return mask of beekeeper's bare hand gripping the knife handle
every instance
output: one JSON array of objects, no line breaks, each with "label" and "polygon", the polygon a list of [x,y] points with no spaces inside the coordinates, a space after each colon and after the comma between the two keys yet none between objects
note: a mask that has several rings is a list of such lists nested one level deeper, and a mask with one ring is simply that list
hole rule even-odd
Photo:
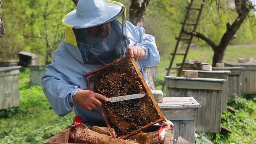
[{"label": "beekeeper's bare hand gripping the knife handle", "polygon": [[91,111],[93,108],[96,108],[97,106],[102,106],[101,101],[107,102],[108,98],[89,90],[80,90],[73,97],[73,101],[80,107]]}]

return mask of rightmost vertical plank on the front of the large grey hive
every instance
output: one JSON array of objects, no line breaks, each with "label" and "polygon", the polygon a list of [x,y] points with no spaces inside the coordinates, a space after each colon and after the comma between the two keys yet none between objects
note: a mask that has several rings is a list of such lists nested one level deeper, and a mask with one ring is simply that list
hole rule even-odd
[{"label": "rightmost vertical plank on the front of the large grey hive", "polygon": [[221,121],[221,91],[217,91],[217,99],[216,99],[216,122],[215,122],[215,132],[220,132],[220,121]]}]

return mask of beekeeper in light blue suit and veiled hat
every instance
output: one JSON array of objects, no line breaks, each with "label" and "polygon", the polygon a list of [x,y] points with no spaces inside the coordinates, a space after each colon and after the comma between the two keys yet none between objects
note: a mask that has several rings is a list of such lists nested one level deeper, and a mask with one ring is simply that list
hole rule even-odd
[{"label": "beekeeper in light blue suit and veiled hat", "polygon": [[107,98],[89,91],[83,75],[125,55],[133,57],[142,72],[144,66],[159,63],[155,38],[125,16],[121,3],[79,0],[76,10],[62,19],[64,40],[42,78],[43,92],[57,115],[65,116],[75,108],[83,121],[104,122],[96,106]]}]

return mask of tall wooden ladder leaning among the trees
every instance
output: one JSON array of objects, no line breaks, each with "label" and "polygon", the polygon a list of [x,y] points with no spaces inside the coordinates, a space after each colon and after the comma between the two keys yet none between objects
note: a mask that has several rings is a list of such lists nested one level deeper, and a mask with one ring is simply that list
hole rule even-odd
[{"label": "tall wooden ladder leaning among the trees", "polygon": [[[172,56],[172,57],[171,57],[171,62],[170,62],[170,64],[169,64],[169,67],[166,68],[166,70],[167,70],[166,75],[167,75],[167,76],[170,74],[170,71],[173,70],[173,69],[179,69],[178,76],[181,76],[181,72],[182,72],[182,69],[183,69],[183,66],[184,66],[186,57],[187,57],[187,53],[188,53],[188,50],[189,50],[189,48],[190,48],[191,41],[192,41],[192,39],[193,39],[193,36],[192,36],[192,35],[190,35],[190,36],[188,36],[188,37],[183,37],[182,35],[185,34],[184,32],[186,31],[186,30],[185,30],[185,26],[194,26],[192,31],[187,30],[187,31],[189,31],[189,32],[194,33],[194,32],[196,31],[197,25],[198,25],[198,22],[199,22],[199,19],[200,19],[202,10],[203,10],[203,5],[205,4],[205,3],[204,3],[205,0],[202,0],[202,3],[201,3],[200,8],[192,7],[193,1],[194,1],[194,0],[190,0],[190,3],[188,4],[188,7],[186,7],[187,13],[186,13],[186,16],[185,16],[184,21],[181,22],[182,27],[181,27],[180,34],[179,34],[178,37],[175,38],[175,39],[177,39],[177,43],[176,43],[174,52],[171,53],[171,56]],[[192,10],[193,10],[193,11],[198,11],[198,13],[197,13],[197,18],[196,18],[195,23],[187,22],[188,19],[189,19],[190,11],[192,11]],[[178,47],[179,47],[179,43],[180,43],[181,40],[187,41],[187,49],[186,49],[186,52],[184,52],[184,53],[177,53],[177,49],[178,49]],[[181,63],[181,66],[179,66],[179,67],[172,67],[173,62],[174,62],[174,58],[175,58],[176,55],[184,56],[184,57],[183,57],[183,61],[182,61],[182,63]],[[163,85],[162,85],[162,91],[164,90],[164,86],[165,86],[165,79],[164,79],[164,83],[163,83]]]}]

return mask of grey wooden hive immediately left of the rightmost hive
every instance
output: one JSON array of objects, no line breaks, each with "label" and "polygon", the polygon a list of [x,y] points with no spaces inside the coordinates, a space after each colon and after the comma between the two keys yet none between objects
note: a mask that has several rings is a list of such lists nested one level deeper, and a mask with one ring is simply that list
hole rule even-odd
[{"label": "grey wooden hive immediately left of the rightmost hive", "polygon": [[230,71],[228,74],[228,84],[227,84],[227,97],[233,99],[234,95],[241,96],[241,79],[240,75],[243,71],[243,67],[212,67],[214,71]]}]

